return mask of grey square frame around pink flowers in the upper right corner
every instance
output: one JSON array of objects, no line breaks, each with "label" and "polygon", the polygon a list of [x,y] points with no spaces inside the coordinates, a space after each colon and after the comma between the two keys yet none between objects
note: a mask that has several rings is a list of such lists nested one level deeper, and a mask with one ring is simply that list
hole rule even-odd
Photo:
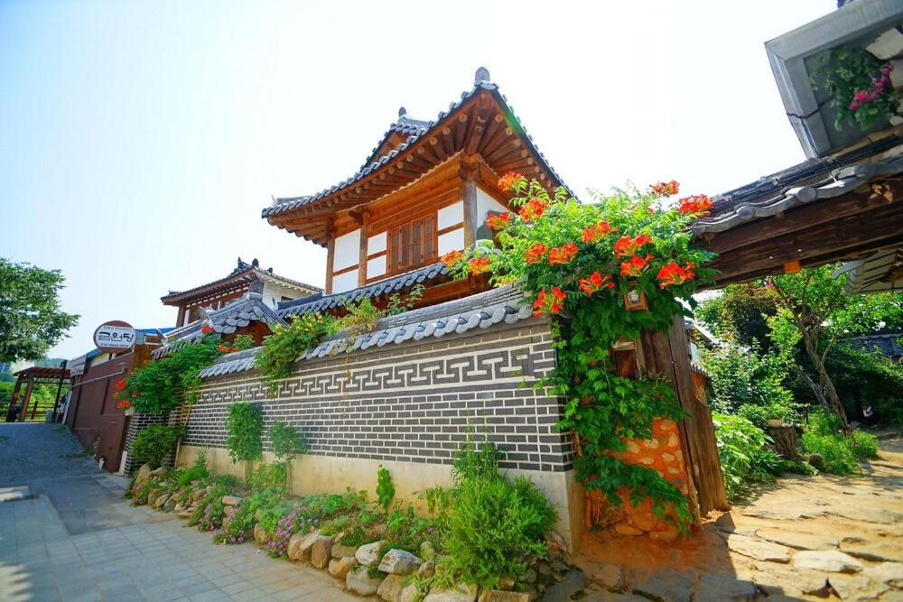
[{"label": "grey square frame around pink flowers in the upper right corner", "polygon": [[[834,128],[835,112],[813,88],[811,60],[845,44],[868,44],[901,21],[899,0],[856,0],[765,43],[787,117],[807,157],[823,157],[869,134],[856,125],[840,132]],[[876,125],[872,131],[887,126]]]}]

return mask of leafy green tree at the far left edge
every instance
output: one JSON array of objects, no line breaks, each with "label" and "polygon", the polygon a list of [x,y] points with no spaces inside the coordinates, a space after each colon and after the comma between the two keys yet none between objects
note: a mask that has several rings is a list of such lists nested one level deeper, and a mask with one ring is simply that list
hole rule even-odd
[{"label": "leafy green tree at the far left edge", "polygon": [[78,323],[60,309],[63,282],[60,270],[0,257],[0,362],[41,359]]}]

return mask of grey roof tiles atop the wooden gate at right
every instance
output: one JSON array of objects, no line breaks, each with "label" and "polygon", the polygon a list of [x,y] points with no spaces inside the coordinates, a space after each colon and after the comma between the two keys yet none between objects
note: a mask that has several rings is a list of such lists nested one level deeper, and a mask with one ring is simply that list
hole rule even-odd
[{"label": "grey roof tiles atop the wooden gate at right", "polygon": [[834,159],[810,160],[714,197],[712,214],[691,226],[694,235],[718,233],[798,205],[832,199],[878,176],[903,171],[900,158],[856,165],[903,144],[898,135],[862,146]]}]

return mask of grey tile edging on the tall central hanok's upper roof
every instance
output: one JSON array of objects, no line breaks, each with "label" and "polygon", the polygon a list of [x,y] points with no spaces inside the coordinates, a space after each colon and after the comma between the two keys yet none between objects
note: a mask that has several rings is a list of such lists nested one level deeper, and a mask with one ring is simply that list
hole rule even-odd
[{"label": "grey tile edging on the tall central hanok's upper roof", "polygon": [[[424,122],[424,121],[419,121],[419,120],[414,120],[414,119],[408,119],[407,123],[400,125],[399,126],[400,128],[403,128],[405,130],[410,130],[410,135],[408,135],[407,140],[404,143],[399,144],[394,150],[390,151],[389,153],[387,153],[379,158],[371,157],[372,161],[369,162],[368,164],[365,164],[363,167],[361,167],[357,171],[357,173],[352,175],[350,178],[348,178],[347,180],[344,180],[344,181],[340,181],[338,184],[335,184],[334,186],[330,186],[330,188],[327,188],[325,190],[321,190],[320,192],[317,192],[316,194],[307,195],[307,196],[303,196],[303,197],[286,197],[286,198],[282,198],[282,199],[275,199],[273,205],[263,209],[263,211],[261,212],[261,217],[267,218],[269,216],[283,213],[284,211],[289,211],[294,208],[303,207],[304,205],[308,205],[316,200],[323,199],[324,197],[328,197],[328,196],[330,196],[330,194],[332,194],[334,192],[348,188],[355,182],[367,177],[370,173],[377,171],[379,168],[392,162],[400,153],[405,152],[405,150],[407,150],[412,144],[416,143],[418,140],[420,140],[424,136],[427,136],[428,134],[432,135],[434,132],[438,131],[439,128],[437,127],[437,125],[441,124],[448,117],[454,115],[458,109],[460,109],[468,100],[470,100],[471,97],[474,97],[480,90],[489,91],[492,94],[492,96],[496,98],[496,101],[498,102],[499,106],[506,108],[507,112],[511,116],[514,116],[514,110],[512,109],[512,107],[510,107],[507,104],[507,98],[498,91],[498,86],[496,84],[489,81],[489,71],[487,71],[486,69],[480,68],[477,71],[477,78],[476,78],[473,88],[471,88],[470,91],[462,92],[461,100],[453,102],[449,106],[447,111],[442,111],[439,114],[439,116],[437,116],[432,121]],[[523,136],[526,145],[530,148],[531,152],[535,154],[535,156],[539,160],[539,162],[542,163],[542,166],[545,169],[545,171],[547,171],[554,178],[555,181],[561,182],[561,184],[563,186],[565,186],[561,177],[559,177],[558,173],[556,171],[554,171],[554,169],[552,169],[552,166],[549,165],[548,161],[545,159],[545,155],[543,153],[540,153],[539,149],[536,148],[536,145],[533,142],[532,136],[530,136],[530,134],[527,134],[526,128],[524,128],[524,126],[519,123],[520,120],[517,119],[517,116],[514,116],[514,118],[517,120],[518,125],[519,125],[519,130],[518,130],[519,134],[521,134]],[[396,123],[393,125],[395,126],[398,124]],[[392,130],[390,129],[390,132],[391,131]],[[405,131],[405,133],[407,133],[407,131]],[[374,153],[378,152],[378,150],[382,146],[383,142],[385,142],[385,138],[383,139],[382,142],[380,142],[380,144],[377,144],[377,148],[374,150]],[[567,187],[565,186],[565,188],[567,188]]]}]

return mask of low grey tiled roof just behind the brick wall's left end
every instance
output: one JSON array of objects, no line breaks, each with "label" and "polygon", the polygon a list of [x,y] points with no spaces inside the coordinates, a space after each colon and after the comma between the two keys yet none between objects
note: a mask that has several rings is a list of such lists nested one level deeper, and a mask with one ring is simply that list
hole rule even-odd
[{"label": "low grey tiled roof just behind the brick wall's left end", "polygon": [[200,341],[204,337],[201,329],[205,326],[212,328],[213,332],[219,335],[230,335],[254,321],[263,322],[271,328],[276,324],[285,324],[285,320],[264,302],[259,292],[248,292],[241,299],[232,301],[219,310],[206,310],[206,314],[203,320],[194,320],[191,324],[167,333],[167,343],[154,349],[152,353],[154,359],[165,357],[180,347]]}]

